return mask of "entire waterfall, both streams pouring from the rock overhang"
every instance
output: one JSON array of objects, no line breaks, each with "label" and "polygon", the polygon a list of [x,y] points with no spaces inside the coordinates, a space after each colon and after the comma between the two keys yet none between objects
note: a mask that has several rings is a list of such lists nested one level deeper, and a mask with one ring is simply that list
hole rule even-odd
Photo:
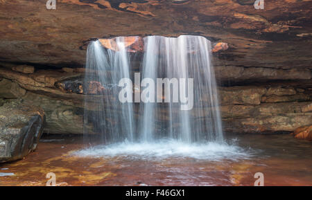
[{"label": "entire waterfall, both streams pouring from the rock overhang", "polygon": [[[144,37],[144,55],[135,71],[125,38],[115,38],[115,49],[104,48],[98,41],[88,46],[85,87],[98,82],[105,89],[85,97],[85,134],[90,135],[91,126],[93,134],[113,143],[163,138],[184,143],[223,142],[209,40],[192,35]],[[132,72],[141,73],[141,101],[121,103],[118,82],[133,80]],[[167,85],[162,82],[165,78]],[[156,95],[146,94],[147,87]],[[182,109],[191,97],[191,109]]]}]

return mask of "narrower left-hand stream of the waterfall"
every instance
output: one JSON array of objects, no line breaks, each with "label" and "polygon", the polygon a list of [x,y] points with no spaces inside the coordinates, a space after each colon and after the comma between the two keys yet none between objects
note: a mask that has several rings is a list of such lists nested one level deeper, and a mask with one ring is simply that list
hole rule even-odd
[{"label": "narrower left-hand stream of the waterfall", "polygon": [[134,138],[132,104],[122,104],[118,100],[119,80],[130,78],[130,57],[124,40],[125,37],[116,38],[119,51],[104,48],[98,40],[87,48],[84,136],[96,134],[95,139],[103,143]]}]

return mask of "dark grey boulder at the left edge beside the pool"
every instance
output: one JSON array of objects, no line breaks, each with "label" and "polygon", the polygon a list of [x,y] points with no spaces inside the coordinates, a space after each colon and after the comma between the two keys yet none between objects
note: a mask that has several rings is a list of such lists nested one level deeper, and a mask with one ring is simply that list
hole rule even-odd
[{"label": "dark grey boulder at the left edge beside the pool", "polygon": [[44,129],[44,111],[14,100],[0,107],[0,163],[34,151]]}]

